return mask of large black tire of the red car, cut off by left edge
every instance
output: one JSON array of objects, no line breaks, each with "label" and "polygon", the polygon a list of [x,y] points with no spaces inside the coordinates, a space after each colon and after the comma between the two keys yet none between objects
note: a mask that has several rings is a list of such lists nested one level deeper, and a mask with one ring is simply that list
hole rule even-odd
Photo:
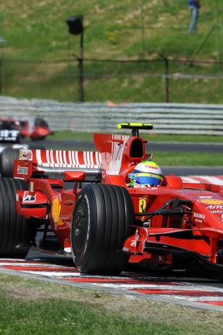
[{"label": "large black tire of the red car, cut off by left edge", "polygon": [[31,228],[24,216],[17,214],[15,192],[27,190],[26,181],[22,179],[0,178],[0,257],[25,258],[28,251],[15,248],[29,246]]}]

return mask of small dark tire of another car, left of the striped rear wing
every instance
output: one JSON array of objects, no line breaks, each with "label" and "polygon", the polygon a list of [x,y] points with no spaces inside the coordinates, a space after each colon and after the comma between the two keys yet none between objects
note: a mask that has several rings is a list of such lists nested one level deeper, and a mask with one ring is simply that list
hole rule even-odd
[{"label": "small dark tire of another car, left of the striped rear wing", "polygon": [[14,160],[20,158],[20,149],[3,149],[0,156],[1,177],[13,177]]}]

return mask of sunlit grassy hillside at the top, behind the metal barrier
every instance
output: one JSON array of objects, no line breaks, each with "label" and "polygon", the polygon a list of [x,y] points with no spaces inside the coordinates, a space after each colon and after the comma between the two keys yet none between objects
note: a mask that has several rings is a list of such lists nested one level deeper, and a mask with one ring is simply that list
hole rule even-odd
[{"label": "sunlit grassy hillside at the top, behind the metal barrier", "polygon": [[[222,22],[223,4],[218,2]],[[1,1],[0,35],[7,41],[0,45],[1,94],[78,101],[75,57],[80,53],[80,36],[68,33],[66,20],[84,15],[84,100],[164,102],[165,80],[146,77],[165,73],[160,54],[171,61],[169,73],[223,74],[223,66],[213,64],[185,68],[185,59],[192,57],[215,22],[215,3],[202,3],[197,34],[188,35],[190,13],[185,0],[92,0],[90,5],[88,0]],[[223,29],[219,34],[219,49],[213,30],[194,60],[217,61],[219,51],[222,61]],[[100,59],[144,62],[117,64]],[[171,79],[169,90],[173,103],[223,103],[222,80]]]}]

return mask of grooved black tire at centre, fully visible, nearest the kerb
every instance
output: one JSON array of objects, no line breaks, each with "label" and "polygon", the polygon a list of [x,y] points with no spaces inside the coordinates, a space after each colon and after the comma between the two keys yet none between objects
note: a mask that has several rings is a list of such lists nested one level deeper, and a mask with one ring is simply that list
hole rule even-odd
[{"label": "grooved black tire at centre, fully visible, nearest the kerb", "polygon": [[72,215],[71,251],[84,274],[117,275],[129,255],[117,253],[133,234],[134,207],[126,188],[89,184],[79,193]]}]

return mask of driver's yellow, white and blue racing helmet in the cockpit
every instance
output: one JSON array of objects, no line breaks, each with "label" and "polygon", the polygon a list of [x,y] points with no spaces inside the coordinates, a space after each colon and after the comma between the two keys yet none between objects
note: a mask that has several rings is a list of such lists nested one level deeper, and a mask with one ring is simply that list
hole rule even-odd
[{"label": "driver's yellow, white and blue racing helmet in the cockpit", "polygon": [[163,174],[160,167],[153,161],[144,161],[136,165],[132,173],[129,174],[130,186],[134,188],[144,188],[148,186],[159,186]]}]

